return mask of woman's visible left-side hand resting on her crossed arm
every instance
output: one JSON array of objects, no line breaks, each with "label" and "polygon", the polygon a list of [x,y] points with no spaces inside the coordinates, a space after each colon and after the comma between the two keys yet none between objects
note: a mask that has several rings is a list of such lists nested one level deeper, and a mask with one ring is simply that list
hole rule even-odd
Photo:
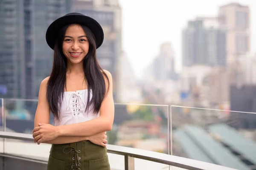
[{"label": "woman's visible left-side hand resting on her crossed arm", "polygon": [[56,139],[58,137],[58,127],[50,124],[39,123],[33,130],[34,142],[38,144]]}]

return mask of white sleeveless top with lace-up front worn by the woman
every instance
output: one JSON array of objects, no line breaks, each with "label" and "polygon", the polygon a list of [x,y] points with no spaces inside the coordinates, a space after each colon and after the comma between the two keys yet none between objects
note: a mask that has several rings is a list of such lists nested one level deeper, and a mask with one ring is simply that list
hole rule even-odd
[{"label": "white sleeveless top with lace-up front worn by the woman", "polygon": [[99,113],[94,114],[90,109],[90,112],[85,111],[89,92],[91,99],[92,91],[88,89],[64,92],[60,107],[60,119],[54,119],[55,126],[85,122],[99,117]]}]

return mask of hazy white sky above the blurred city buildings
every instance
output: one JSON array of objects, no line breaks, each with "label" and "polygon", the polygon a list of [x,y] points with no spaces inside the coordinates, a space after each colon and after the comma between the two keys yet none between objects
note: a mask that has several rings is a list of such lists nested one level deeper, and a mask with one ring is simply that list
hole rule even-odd
[{"label": "hazy white sky above the blurred city buildings", "polygon": [[[119,0],[122,47],[137,77],[157,56],[161,43],[171,42],[177,69],[181,66],[181,31],[195,17],[214,17],[218,7],[241,3],[250,7],[251,48],[256,52],[256,0]],[[254,21],[253,21],[254,20]]]}]

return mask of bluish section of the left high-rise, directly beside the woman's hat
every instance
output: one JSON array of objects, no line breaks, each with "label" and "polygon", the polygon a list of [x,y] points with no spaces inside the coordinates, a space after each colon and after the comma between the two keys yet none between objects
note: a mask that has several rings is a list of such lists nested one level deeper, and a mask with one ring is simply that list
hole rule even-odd
[{"label": "bluish section of the left high-rise, directly beside the woman's hat", "polygon": [[38,95],[41,81],[48,77],[52,69],[53,50],[45,40],[48,26],[57,18],[70,12],[72,0],[34,0],[33,4],[33,48],[32,56],[35,57],[36,94]]}]

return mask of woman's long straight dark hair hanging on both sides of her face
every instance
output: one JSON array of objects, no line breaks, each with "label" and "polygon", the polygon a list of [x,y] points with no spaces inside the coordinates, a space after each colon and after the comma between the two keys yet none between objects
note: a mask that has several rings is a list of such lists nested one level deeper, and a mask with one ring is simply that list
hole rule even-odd
[{"label": "woman's long straight dark hair hanging on both sides of her face", "polygon": [[[64,26],[58,32],[53,54],[52,72],[47,84],[47,100],[50,111],[56,119],[60,117],[60,106],[64,96],[64,89],[66,88],[67,57],[63,54],[62,45],[65,33],[70,25]],[[102,101],[107,94],[106,91],[108,92],[109,90],[109,79],[107,74],[102,71],[96,58],[96,41],[93,33],[86,26],[81,25],[81,27],[89,40],[89,51],[83,60],[84,79],[89,90],[85,110],[93,111],[96,114],[99,112]],[[108,81],[107,89],[104,77]],[[90,99],[90,89],[93,94],[92,99]]]}]

